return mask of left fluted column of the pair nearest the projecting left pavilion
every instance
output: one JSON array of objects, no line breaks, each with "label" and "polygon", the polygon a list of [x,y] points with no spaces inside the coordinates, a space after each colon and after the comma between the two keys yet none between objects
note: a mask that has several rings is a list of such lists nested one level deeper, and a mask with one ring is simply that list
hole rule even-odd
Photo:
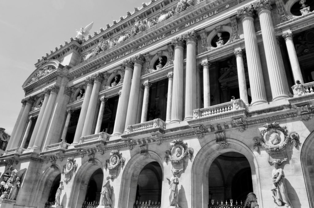
[{"label": "left fluted column of the pair nearest the projecting left pavilion", "polygon": [[84,122],[85,122],[87,109],[88,109],[88,104],[89,104],[90,96],[92,94],[94,80],[92,79],[92,77],[88,77],[86,79],[86,82],[87,82],[87,86],[86,86],[86,91],[84,95],[84,101],[82,104],[81,112],[79,114],[78,124],[76,126],[73,144],[77,144],[79,142],[79,138],[82,136]]}]

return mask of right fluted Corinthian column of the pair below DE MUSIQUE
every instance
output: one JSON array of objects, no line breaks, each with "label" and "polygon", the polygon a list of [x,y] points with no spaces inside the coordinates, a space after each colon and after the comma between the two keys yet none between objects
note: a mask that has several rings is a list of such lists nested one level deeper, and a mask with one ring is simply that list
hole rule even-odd
[{"label": "right fluted Corinthian column of the pair below DE MUSIQUE", "polygon": [[195,31],[184,34],[187,43],[187,69],[185,79],[185,115],[184,120],[193,118],[193,110],[196,109],[196,41]]}]

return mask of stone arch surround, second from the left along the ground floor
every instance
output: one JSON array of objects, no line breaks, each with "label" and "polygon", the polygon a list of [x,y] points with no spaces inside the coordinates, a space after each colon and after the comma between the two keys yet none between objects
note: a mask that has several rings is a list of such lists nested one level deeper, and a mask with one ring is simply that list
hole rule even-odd
[{"label": "stone arch surround, second from the left along the ground floor", "polygon": [[96,164],[94,165],[86,161],[77,170],[73,178],[72,191],[66,207],[82,207],[91,175],[97,169],[104,170],[104,165],[98,159],[95,159],[95,162]]}]

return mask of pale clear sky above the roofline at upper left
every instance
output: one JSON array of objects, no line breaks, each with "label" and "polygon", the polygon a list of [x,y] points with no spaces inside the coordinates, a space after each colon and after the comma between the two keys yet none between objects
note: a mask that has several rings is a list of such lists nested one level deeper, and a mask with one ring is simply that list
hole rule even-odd
[{"label": "pale clear sky above the roofline at upper left", "polygon": [[106,28],[150,0],[10,0],[0,2],[0,127],[12,133],[24,98],[22,85],[38,58],[94,22]]}]

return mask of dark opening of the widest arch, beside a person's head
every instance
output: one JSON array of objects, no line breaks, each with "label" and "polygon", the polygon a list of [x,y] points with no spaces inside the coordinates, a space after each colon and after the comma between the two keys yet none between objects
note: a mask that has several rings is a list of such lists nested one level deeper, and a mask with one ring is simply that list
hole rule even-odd
[{"label": "dark opening of the widest arch, beside a person's head", "polygon": [[244,201],[253,191],[249,161],[237,152],[220,154],[208,171],[209,201]]}]

